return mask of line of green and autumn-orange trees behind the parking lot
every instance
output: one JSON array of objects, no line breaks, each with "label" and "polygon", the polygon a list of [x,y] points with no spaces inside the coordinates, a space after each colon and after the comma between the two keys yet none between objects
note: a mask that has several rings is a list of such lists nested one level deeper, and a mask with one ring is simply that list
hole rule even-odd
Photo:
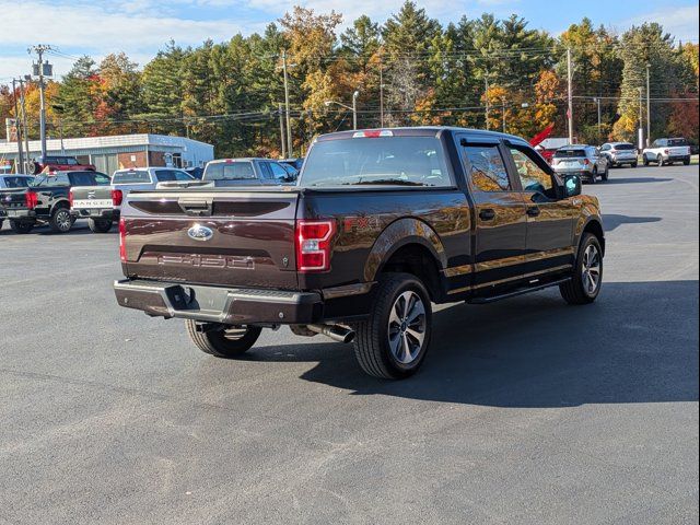
[{"label": "line of green and autumn-orange trees behind the parking lot", "polygon": [[[349,106],[355,91],[361,128],[454,125],[529,138],[553,125],[567,136],[570,49],[580,142],[634,141],[640,107],[646,121],[648,65],[652,139],[698,140],[698,44],[655,22],[615,34],[583,19],[555,37],[517,15],[443,26],[407,1],[383,24],[364,15],[345,31],[341,23],[336,12],[295,7],[262,34],[171,42],[142,69],[125,54],[82,57],[47,85],[49,133],[180,135],[214,144],[218,156],[277,156],[285,60],[295,154],[317,133],[351,127],[351,112],[326,102]],[[34,84],[26,105],[36,138]],[[0,86],[0,117],[12,116],[11,89]]]}]

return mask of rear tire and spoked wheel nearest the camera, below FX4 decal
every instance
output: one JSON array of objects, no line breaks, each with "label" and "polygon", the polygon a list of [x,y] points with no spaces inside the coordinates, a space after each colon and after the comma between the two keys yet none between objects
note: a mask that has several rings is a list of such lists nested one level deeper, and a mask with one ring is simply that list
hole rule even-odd
[{"label": "rear tire and spoked wheel nearest the camera, below FX4 decal", "polygon": [[[354,325],[355,358],[362,370],[375,377],[408,377],[418,371],[430,347],[430,294],[423,283],[410,273],[384,275],[374,293],[369,319]],[[420,304],[415,298],[420,299]],[[406,314],[402,319],[401,310]],[[392,322],[393,313],[396,322]],[[412,313],[416,313],[415,320],[407,320]],[[412,334],[422,335],[422,341]],[[392,338],[397,341],[395,350],[389,343]],[[404,354],[407,360],[402,362],[397,353]]]}]

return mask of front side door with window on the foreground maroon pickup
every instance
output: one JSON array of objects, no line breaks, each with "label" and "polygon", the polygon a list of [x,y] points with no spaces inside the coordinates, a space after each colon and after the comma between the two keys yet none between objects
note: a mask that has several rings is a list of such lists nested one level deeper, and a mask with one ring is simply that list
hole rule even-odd
[{"label": "front side door with window on the foreground maroon pickup", "polygon": [[571,198],[559,197],[551,168],[533,149],[510,142],[505,145],[527,208],[523,272],[536,279],[549,271],[569,269],[575,255]]}]

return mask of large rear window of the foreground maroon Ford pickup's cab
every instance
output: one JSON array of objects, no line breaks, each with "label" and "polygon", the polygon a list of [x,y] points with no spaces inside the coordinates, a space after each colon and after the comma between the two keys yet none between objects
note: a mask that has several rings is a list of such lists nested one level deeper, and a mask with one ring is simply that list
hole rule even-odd
[{"label": "large rear window of the foreground maroon Ford pickup's cab", "polygon": [[316,142],[301,186],[451,186],[435,137],[376,137]]}]

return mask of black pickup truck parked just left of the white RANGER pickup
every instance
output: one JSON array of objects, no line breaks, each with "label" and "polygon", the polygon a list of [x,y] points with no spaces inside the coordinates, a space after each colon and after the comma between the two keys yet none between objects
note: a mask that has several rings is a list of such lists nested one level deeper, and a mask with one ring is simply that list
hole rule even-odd
[{"label": "black pickup truck parked just left of the white RANGER pickup", "polygon": [[0,221],[9,219],[16,233],[28,233],[36,224],[66,233],[75,222],[70,213],[70,188],[98,185],[109,185],[109,177],[93,171],[38,175],[27,188],[0,190]]}]

